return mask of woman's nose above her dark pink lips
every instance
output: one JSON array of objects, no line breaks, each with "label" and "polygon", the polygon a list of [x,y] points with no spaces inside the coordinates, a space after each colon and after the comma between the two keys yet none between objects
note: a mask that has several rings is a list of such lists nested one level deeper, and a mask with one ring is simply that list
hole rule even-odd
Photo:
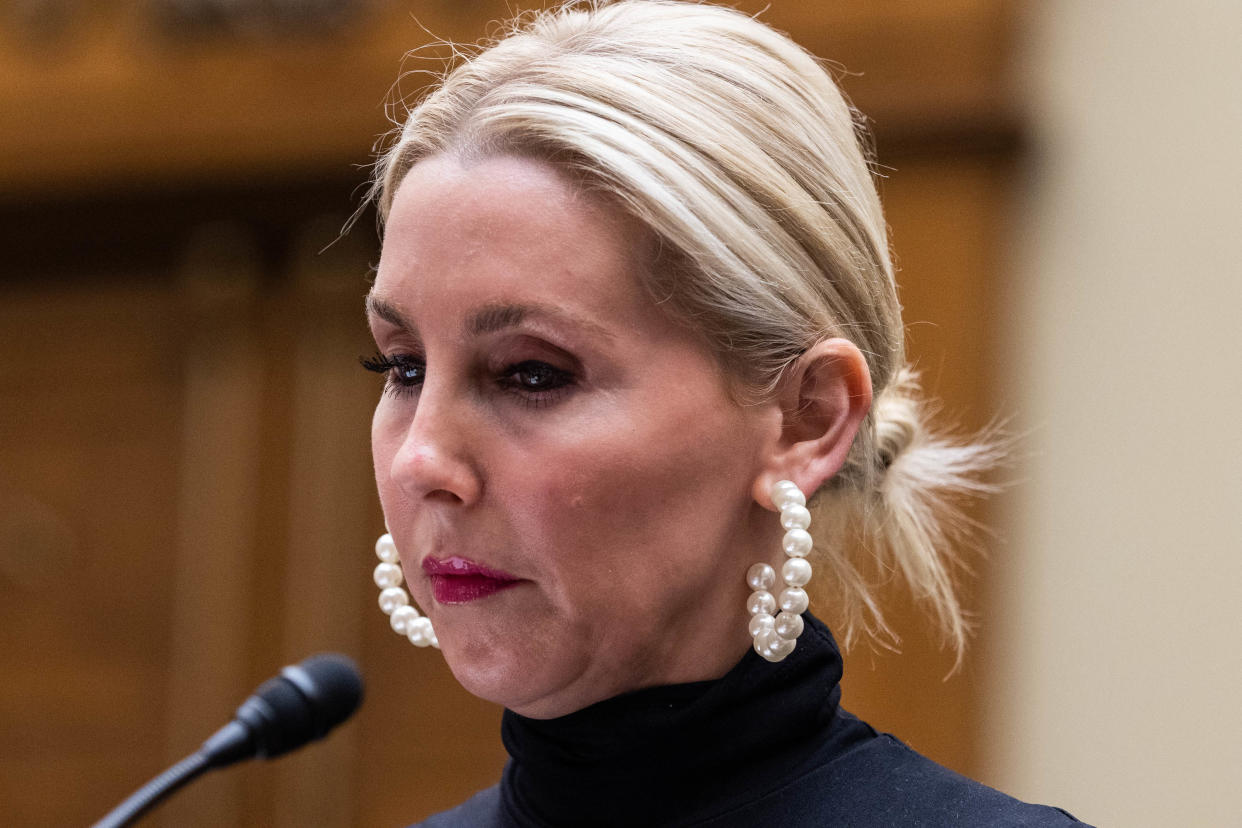
[{"label": "woman's nose above her dark pink lips", "polygon": [[394,483],[411,503],[472,504],[482,492],[469,447],[469,413],[451,390],[427,382],[392,456]]}]

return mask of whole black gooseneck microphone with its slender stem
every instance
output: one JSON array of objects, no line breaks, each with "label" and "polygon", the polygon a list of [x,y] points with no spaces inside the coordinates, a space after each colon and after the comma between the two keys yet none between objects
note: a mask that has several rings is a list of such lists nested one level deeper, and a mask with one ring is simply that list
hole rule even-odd
[{"label": "whole black gooseneck microphone with its slender stem", "polygon": [[322,739],[353,715],[363,700],[363,677],[335,653],[312,655],[263,682],[233,720],[190,756],[144,785],[93,828],[122,828],[206,771],[243,758],[272,758]]}]

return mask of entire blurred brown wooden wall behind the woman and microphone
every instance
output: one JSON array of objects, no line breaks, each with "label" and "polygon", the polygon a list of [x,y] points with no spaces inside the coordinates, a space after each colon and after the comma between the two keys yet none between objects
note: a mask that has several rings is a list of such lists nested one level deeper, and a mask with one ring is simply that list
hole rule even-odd
[{"label": "entire blurred brown wooden wall behind the woman and microphone", "polygon": [[[873,120],[912,351],[965,428],[997,410],[1018,11],[775,0],[764,14],[846,70]],[[497,778],[499,710],[375,606],[379,386],[356,356],[378,248],[370,214],[338,231],[402,55],[428,30],[473,41],[507,14],[498,0],[0,11],[9,824],[92,822],[322,649],[363,665],[356,719],[304,754],[200,781],[152,824],[402,826]],[[982,633],[959,674],[944,680],[951,658],[894,596],[903,653],[851,653],[845,693],[966,773],[985,770],[989,570],[975,570]]]}]

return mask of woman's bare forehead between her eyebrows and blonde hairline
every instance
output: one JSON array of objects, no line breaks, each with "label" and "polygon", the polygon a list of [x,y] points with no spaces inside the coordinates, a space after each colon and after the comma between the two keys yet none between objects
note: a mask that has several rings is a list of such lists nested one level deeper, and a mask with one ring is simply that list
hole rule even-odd
[{"label": "woman's bare forehead between her eyebrows and blonde hairline", "polygon": [[402,308],[461,299],[653,309],[640,283],[648,237],[546,163],[435,156],[397,189],[373,293]]}]

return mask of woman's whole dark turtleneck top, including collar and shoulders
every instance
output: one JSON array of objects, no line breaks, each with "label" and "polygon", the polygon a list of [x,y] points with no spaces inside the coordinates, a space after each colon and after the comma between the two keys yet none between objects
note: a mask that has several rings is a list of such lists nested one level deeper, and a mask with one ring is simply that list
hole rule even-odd
[{"label": "woman's whole dark turtleneck top, including collar and shoulders", "polygon": [[568,716],[505,711],[501,783],[427,828],[1082,824],[919,756],[837,705],[841,654],[805,614],[794,653]]}]

